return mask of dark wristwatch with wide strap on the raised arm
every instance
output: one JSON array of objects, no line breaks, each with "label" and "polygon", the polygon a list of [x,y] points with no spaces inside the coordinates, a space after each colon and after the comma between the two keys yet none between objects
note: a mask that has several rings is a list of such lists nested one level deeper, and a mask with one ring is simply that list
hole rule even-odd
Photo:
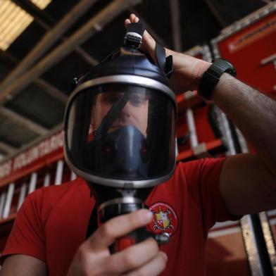
[{"label": "dark wristwatch with wide strap on the raised arm", "polygon": [[213,64],[203,73],[201,82],[199,82],[199,95],[210,100],[215,85],[218,84],[220,76],[225,72],[232,76],[236,75],[236,69],[229,61],[222,58],[215,59]]}]

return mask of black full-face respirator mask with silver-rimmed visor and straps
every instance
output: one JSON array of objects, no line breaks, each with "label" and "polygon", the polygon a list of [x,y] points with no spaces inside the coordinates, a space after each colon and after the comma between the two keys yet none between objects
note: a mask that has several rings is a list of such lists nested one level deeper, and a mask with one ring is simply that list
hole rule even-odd
[{"label": "black full-face respirator mask with silver-rimmed visor and straps", "polygon": [[[156,65],[139,49],[143,32],[140,23],[127,25],[123,46],[75,79],[65,111],[65,159],[87,180],[101,222],[144,208],[151,189],[175,169],[172,56],[157,44]],[[130,234],[134,243],[149,235]]]}]

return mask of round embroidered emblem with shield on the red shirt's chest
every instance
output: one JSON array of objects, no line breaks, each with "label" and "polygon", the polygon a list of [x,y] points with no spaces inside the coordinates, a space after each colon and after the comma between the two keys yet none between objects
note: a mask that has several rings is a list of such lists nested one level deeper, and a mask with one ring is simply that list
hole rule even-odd
[{"label": "round embroidered emblem with shield on the red shirt's chest", "polygon": [[178,218],[172,206],[164,202],[156,202],[149,206],[153,213],[153,221],[149,224],[151,232],[160,234],[167,232],[172,236],[178,227]]}]

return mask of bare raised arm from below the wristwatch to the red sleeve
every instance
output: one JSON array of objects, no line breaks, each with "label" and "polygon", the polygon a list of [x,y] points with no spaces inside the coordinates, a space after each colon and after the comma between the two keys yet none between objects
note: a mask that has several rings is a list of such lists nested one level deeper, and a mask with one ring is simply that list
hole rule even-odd
[{"label": "bare raised arm from below the wristwatch to the red sleeve", "polygon": [[220,189],[230,214],[276,208],[276,101],[223,74],[212,100],[256,150],[227,158]]}]

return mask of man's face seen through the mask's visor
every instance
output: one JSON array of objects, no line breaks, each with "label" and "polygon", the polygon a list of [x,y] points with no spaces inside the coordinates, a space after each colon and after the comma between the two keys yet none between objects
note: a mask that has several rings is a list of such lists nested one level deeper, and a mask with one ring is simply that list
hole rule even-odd
[{"label": "man's face seen through the mask's visor", "polygon": [[[118,102],[123,93],[106,92],[96,96],[92,111],[92,129],[96,130],[103,117],[108,113],[111,106]],[[146,137],[146,127],[148,125],[149,99],[144,94],[132,93],[129,101],[125,104],[122,111],[114,121],[108,132],[113,132],[120,127],[132,125],[144,134]]]}]

